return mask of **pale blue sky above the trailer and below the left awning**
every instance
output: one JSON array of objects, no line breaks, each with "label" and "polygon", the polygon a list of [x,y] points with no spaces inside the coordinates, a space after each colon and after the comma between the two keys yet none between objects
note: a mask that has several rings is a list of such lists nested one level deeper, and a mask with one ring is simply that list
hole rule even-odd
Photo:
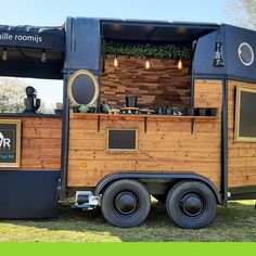
[{"label": "pale blue sky above the trailer and below the left awning", "polygon": [[[67,16],[229,23],[232,0],[0,0],[0,25],[59,26]],[[62,81],[23,79],[48,106],[62,102]],[[49,94],[50,88],[54,93]]]}]

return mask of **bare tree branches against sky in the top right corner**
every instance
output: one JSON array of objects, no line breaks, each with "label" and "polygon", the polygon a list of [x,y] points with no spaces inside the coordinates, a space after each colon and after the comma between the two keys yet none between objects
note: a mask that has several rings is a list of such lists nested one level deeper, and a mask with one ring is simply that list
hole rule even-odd
[{"label": "bare tree branches against sky in the top right corner", "polygon": [[232,24],[256,29],[256,0],[232,0],[226,10]]}]

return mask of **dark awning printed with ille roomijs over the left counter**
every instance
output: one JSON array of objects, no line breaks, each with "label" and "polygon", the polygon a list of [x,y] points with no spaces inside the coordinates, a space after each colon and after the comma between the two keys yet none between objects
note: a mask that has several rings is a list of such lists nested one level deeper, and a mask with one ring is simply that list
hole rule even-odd
[{"label": "dark awning printed with ille roomijs over the left counter", "polygon": [[0,76],[62,79],[64,51],[63,28],[0,26]]}]

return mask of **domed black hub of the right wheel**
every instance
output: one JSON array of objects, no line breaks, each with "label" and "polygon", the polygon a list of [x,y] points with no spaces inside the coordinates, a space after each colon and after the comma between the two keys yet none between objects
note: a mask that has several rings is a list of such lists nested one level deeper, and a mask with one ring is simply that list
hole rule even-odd
[{"label": "domed black hub of the right wheel", "polygon": [[199,216],[204,208],[203,201],[196,194],[187,194],[180,203],[183,213],[191,217]]}]

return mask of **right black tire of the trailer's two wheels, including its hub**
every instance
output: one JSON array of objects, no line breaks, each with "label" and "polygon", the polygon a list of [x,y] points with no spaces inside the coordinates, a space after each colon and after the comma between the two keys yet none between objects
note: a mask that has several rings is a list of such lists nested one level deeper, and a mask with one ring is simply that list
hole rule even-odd
[{"label": "right black tire of the trailer's two wheels, including its hub", "polygon": [[182,181],[168,193],[166,209],[176,225],[187,229],[208,226],[216,215],[216,197],[213,191],[199,181]]}]

